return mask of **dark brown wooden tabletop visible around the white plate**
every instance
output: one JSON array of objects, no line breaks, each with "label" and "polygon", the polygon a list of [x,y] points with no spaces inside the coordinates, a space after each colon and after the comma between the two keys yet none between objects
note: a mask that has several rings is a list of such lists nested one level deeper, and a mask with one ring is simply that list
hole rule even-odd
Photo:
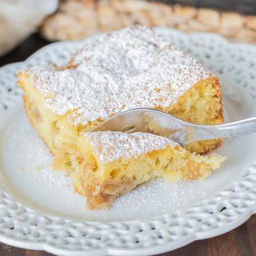
[{"label": "dark brown wooden tabletop visible around the white plate", "polygon": [[[0,58],[0,66],[24,61],[34,51],[46,45],[37,34],[23,42],[17,49]],[[51,256],[44,251],[31,251],[9,247],[0,243],[0,256]],[[253,256],[256,255],[256,215],[245,224],[221,236],[195,241],[161,256]]]}]

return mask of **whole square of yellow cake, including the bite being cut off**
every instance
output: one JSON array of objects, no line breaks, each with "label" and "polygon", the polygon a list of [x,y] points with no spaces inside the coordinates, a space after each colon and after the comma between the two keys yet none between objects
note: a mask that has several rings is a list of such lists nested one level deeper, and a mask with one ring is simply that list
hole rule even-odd
[{"label": "whole square of yellow cake, including the bite being cut off", "polygon": [[[24,69],[18,85],[32,125],[55,157],[55,168],[70,170],[90,208],[106,207],[155,177],[203,179],[221,162],[216,156],[191,154],[217,148],[220,139],[197,141],[186,147],[189,152],[154,135],[86,133],[117,113],[141,107],[193,123],[224,121],[218,77],[150,28],[106,34],[86,44],[65,67]],[[152,130],[157,132],[157,124]]]}]

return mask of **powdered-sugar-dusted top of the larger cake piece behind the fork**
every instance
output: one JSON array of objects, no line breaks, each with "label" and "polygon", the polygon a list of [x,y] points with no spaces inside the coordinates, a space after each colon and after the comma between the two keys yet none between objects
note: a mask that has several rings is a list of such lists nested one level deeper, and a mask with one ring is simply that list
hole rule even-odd
[{"label": "powdered-sugar-dusted top of the larger cake piece behind the fork", "polygon": [[74,125],[139,107],[166,107],[212,73],[150,28],[106,34],[78,51],[65,68],[23,70],[46,108]]}]

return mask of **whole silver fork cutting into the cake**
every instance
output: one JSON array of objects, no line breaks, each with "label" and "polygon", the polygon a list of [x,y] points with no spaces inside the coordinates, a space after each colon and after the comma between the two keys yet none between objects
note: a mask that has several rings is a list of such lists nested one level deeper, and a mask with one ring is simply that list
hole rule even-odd
[{"label": "whole silver fork cutting into the cake", "polygon": [[154,133],[186,146],[193,141],[235,137],[256,131],[256,117],[222,125],[197,125],[152,108],[135,108],[110,117],[91,131]]}]

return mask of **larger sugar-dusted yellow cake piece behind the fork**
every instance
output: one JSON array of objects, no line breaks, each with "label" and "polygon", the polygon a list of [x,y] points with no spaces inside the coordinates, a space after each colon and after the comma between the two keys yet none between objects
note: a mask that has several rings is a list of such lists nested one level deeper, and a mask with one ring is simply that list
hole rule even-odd
[{"label": "larger sugar-dusted yellow cake piece behind the fork", "polygon": [[[31,123],[55,156],[57,168],[76,137],[131,108],[157,108],[201,124],[223,122],[218,77],[150,28],[125,28],[90,42],[66,67],[49,64],[18,74]],[[221,140],[187,146],[205,153]]]}]

